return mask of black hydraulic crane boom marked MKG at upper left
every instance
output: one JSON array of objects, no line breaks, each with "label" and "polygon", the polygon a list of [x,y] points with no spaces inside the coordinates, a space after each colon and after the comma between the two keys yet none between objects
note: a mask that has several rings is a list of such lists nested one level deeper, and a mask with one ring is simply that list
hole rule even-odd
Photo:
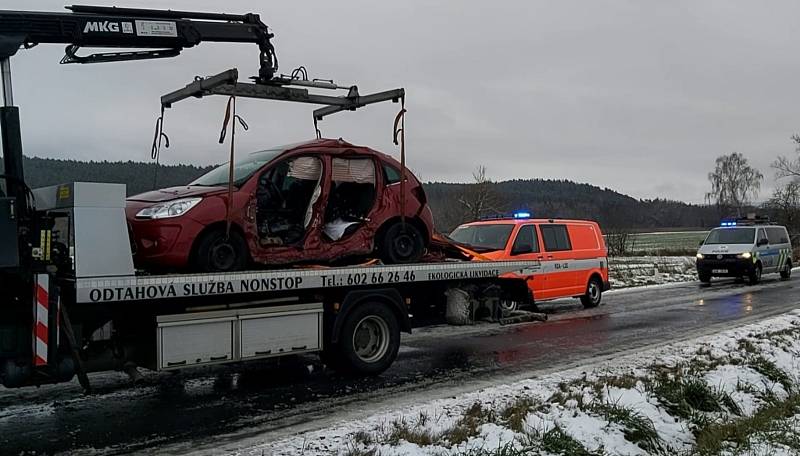
[{"label": "black hydraulic crane boom marked MKG at upper left", "polygon": [[[218,14],[172,10],[68,6],[71,12],[0,11],[0,60],[20,47],[66,44],[61,63],[98,63],[174,57],[203,41],[258,45],[257,82],[277,70],[273,34],[258,14]],[[79,56],[81,47],[141,48]]]}]

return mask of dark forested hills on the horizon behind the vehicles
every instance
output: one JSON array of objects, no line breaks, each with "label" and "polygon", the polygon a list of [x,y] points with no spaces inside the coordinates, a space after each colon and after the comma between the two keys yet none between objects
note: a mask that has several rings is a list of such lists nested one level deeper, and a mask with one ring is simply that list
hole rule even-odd
[{"label": "dark forested hills on the horizon behind the vehicles", "polygon": [[[25,157],[25,177],[32,188],[64,182],[111,182],[127,185],[128,195],[185,185],[211,167],[156,165],[140,162],[62,160]],[[519,209],[543,218],[598,221],[604,230],[701,228],[718,221],[715,207],[665,199],[640,200],[622,193],[569,180],[492,181],[485,167],[473,182],[424,184],[436,227],[449,233],[461,223]]]}]

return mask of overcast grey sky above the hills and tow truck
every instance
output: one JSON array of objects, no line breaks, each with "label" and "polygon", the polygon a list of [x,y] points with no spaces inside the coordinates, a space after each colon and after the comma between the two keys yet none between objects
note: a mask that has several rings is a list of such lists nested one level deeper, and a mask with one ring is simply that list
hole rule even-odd
[{"label": "overcast grey sky above the hills and tow truck", "polygon": [[[92,2],[87,2],[92,3]],[[99,2],[94,2],[99,3]],[[4,0],[7,9],[65,3]],[[113,3],[109,3],[113,4]],[[640,198],[702,202],[714,159],[742,152],[773,186],[794,154],[800,61],[796,1],[129,0],[118,6],[257,12],[276,34],[281,71],[407,90],[407,157],[423,180],[589,182]],[[158,99],[195,75],[257,70],[257,49],[204,43],[174,59],[58,65],[62,46],[12,60],[28,155],[150,157]],[[218,163],[223,98],[167,112],[165,163]],[[240,100],[238,150],[313,137],[312,107]],[[327,119],[322,132],[398,155],[397,105]]]}]

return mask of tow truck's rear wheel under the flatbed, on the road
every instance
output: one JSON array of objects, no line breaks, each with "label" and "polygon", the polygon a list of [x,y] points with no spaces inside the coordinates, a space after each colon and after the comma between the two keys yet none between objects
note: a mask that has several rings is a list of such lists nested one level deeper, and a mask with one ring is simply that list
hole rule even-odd
[{"label": "tow truck's rear wheel under the flatbed, on the road", "polygon": [[378,302],[364,303],[346,316],[339,341],[328,358],[339,371],[377,375],[397,358],[400,325],[394,312]]}]

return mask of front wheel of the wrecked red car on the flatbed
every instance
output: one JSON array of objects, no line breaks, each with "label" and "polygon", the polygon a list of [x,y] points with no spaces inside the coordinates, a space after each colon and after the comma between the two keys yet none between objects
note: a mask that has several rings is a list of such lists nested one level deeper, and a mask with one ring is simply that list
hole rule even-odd
[{"label": "front wheel of the wrecked red car on the flatbed", "polygon": [[193,267],[200,272],[241,271],[247,266],[247,242],[238,232],[215,229],[204,233],[197,242]]}]

